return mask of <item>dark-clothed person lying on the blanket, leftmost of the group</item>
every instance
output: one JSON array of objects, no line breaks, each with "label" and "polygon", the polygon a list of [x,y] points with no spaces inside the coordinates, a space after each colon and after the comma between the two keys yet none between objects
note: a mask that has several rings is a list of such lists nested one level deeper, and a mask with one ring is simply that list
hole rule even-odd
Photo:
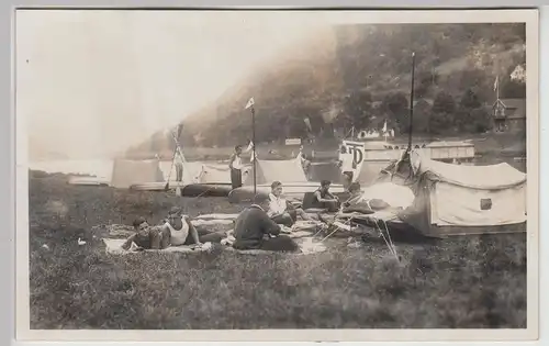
[{"label": "dark-clothed person lying on the blanket, leftmost of the group", "polygon": [[133,222],[135,234],[131,235],[122,248],[127,250],[135,243],[141,249],[164,249],[170,244],[169,231],[163,227],[152,227],[145,217],[137,217]]}]

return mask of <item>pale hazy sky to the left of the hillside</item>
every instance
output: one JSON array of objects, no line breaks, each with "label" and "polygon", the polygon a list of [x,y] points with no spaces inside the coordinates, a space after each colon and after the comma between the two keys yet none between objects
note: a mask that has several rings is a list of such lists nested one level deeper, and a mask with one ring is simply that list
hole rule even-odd
[{"label": "pale hazy sky to the left of the hillside", "polygon": [[31,150],[111,155],[318,26],[267,12],[19,11],[16,114]]}]

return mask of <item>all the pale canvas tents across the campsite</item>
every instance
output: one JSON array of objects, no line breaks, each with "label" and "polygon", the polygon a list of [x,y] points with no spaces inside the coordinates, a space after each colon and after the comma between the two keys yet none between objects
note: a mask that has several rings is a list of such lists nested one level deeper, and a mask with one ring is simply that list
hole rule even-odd
[{"label": "all the pale canvas tents across the campsite", "polygon": [[[244,172],[245,188],[253,186],[253,166]],[[280,180],[287,185],[313,187],[301,157],[290,160],[257,160],[258,185]],[[183,183],[228,185],[226,164],[186,163]],[[506,163],[490,166],[453,165],[430,159],[421,150],[376,168],[371,186],[391,182],[410,189],[413,202],[397,212],[397,221],[428,236],[525,232],[527,219],[526,174]],[[381,172],[380,172],[381,171]],[[175,179],[175,175],[170,175]],[[110,186],[131,188],[143,182],[166,181],[158,160],[119,159]],[[300,190],[301,191],[301,190]],[[388,193],[394,193],[388,191]],[[394,197],[393,197],[394,198]],[[391,224],[394,220],[386,220]]]}]

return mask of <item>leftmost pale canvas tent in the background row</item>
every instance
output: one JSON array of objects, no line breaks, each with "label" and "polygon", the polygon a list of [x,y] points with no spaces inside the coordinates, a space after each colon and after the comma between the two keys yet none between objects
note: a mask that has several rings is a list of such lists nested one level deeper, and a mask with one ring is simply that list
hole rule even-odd
[{"label": "leftmost pale canvas tent in the background row", "polygon": [[128,189],[132,185],[146,182],[163,182],[164,175],[159,161],[115,159],[112,168],[111,186]]}]

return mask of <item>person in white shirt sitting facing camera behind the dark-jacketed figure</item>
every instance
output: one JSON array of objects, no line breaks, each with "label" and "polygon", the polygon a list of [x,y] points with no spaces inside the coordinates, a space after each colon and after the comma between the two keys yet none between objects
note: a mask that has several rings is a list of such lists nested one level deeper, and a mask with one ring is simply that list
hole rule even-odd
[{"label": "person in white shirt sitting facing camera behind the dark-jacketed figure", "polygon": [[271,193],[269,193],[269,209],[267,215],[278,224],[287,227],[293,226],[298,216],[306,221],[313,219],[307,215],[301,208],[294,208],[282,197],[282,182],[273,181],[271,183]]}]

